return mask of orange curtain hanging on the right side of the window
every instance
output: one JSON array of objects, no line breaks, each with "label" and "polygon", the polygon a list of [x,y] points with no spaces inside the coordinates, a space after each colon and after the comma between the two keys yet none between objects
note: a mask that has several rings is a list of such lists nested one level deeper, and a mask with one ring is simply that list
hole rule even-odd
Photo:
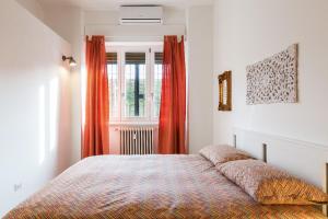
[{"label": "orange curtain hanging on the right side of the window", "polygon": [[187,153],[184,37],[164,37],[159,153]]}]

